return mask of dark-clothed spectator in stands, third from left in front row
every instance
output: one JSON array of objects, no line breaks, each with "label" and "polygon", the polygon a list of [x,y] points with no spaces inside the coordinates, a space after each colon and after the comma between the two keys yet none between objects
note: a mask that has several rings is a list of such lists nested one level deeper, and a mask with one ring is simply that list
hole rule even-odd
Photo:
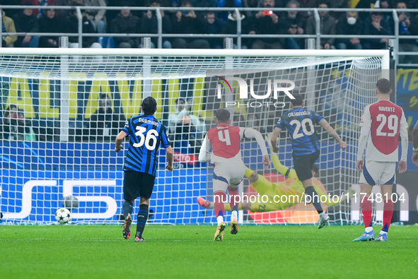
[{"label": "dark-clothed spectator in stands, third from left in front row", "polygon": [[[55,16],[55,9],[49,8],[45,16],[39,20],[39,32],[59,33],[64,32],[64,20]],[[58,36],[41,36],[39,47],[59,47]]]}]

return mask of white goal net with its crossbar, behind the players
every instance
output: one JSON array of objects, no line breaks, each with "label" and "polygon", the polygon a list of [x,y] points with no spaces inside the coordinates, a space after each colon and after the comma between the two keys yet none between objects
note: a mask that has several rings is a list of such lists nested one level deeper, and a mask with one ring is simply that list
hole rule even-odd
[{"label": "white goal net with its crossbar, behind the players", "polygon": [[[115,153],[115,136],[126,119],[140,113],[147,96],[156,98],[155,117],[168,127],[175,151],[173,172],[164,170],[163,148],[158,156],[149,222],[216,222],[214,210],[197,203],[199,196],[213,198],[212,169],[197,158],[205,133],[214,126],[214,111],[226,108],[233,125],[267,136],[289,110],[286,90],[301,93],[306,107],[327,119],[349,144],[340,150],[317,127],[321,155],[315,183],[328,196],[351,198],[349,189],[358,188],[361,113],[376,101],[376,81],[388,76],[383,71],[388,61],[388,51],[376,50],[2,49],[1,221],[54,223],[57,208],[66,207],[73,223],[121,222],[122,166],[129,143]],[[285,132],[279,146],[279,162],[293,167]],[[241,149],[245,165],[273,183],[268,185],[293,189],[294,179],[273,165],[264,170],[255,141],[242,141]],[[245,177],[240,193],[256,194],[260,188]],[[311,205],[274,206],[243,204],[240,222],[318,220]],[[350,199],[325,208],[332,222],[361,222],[359,203]]]}]

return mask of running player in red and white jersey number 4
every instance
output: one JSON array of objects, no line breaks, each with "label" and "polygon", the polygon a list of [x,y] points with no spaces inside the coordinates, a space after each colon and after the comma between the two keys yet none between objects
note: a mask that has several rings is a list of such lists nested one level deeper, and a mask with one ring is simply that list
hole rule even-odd
[{"label": "running player in red and white jersey number 4", "polygon": [[[223,203],[228,189],[231,205],[231,234],[238,233],[238,185],[243,180],[245,165],[241,159],[240,140],[255,138],[262,151],[262,162],[266,169],[270,164],[265,141],[259,131],[252,128],[230,126],[231,119],[227,109],[218,109],[216,127],[210,129],[204,137],[199,152],[199,162],[211,162],[214,165],[214,209],[218,227],[214,240],[223,239],[226,224],[223,222]],[[209,151],[211,150],[211,153]]]}]

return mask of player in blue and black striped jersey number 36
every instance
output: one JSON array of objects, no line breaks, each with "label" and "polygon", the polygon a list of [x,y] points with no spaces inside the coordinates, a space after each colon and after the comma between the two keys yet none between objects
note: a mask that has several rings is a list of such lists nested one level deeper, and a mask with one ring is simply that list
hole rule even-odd
[{"label": "player in blue and black striped jersey number 36", "polygon": [[123,139],[129,136],[129,150],[123,166],[124,204],[122,211],[125,222],[122,234],[125,239],[131,236],[134,201],[135,198],[141,197],[135,242],[144,242],[142,232],[148,220],[149,198],[151,198],[156,179],[157,153],[160,145],[166,148],[168,160],[166,169],[169,172],[173,170],[173,149],[170,146],[166,127],[153,117],[157,109],[156,100],[153,97],[146,97],[142,101],[141,109],[143,114],[130,117],[115,140],[115,151],[119,152],[123,149]]}]

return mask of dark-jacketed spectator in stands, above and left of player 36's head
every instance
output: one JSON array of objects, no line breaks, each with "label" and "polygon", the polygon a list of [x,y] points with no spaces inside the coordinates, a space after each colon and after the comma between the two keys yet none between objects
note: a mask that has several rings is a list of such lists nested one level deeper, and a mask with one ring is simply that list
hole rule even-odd
[{"label": "dark-jacketed spectator in stands, above and left of player 36's head", "polygon": [[[110,23],[111,33],[139,33],[140,30],[141,20],[137,16],[132,15],[129,8],[121,10],[119,15]],[[140,43],[139,37],[115,37],[114,39],[117,47],[122,48],[139,47]]]}]

